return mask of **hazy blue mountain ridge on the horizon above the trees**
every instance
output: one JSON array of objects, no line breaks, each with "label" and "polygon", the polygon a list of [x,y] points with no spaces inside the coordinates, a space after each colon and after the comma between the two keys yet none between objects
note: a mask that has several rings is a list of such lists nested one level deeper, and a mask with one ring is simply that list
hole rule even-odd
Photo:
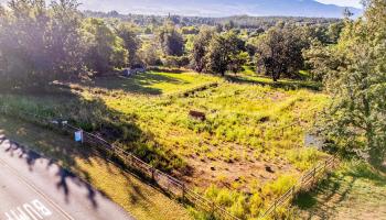
[{"label": "hazy blue mountain ridge on the horizon above the trees", "polygon": [[[4,3],[7,0],[0,0]],[[324,4],[315,0],[81,0],[82,10],[118,11],[137,14],[179,14],[189,16],[309,16],[342,18],[347,8],[354,16],[362,14],[362,9]]]}]

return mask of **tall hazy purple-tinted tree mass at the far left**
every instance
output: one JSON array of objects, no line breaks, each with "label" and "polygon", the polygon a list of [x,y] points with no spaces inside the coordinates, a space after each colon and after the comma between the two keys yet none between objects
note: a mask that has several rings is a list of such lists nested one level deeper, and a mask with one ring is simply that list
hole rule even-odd
[{"label": "tall hazy purple-tinted tree mass at the far left", "polygon": [[34,86],[82,72],[82,16],[75,0],[11,0],[0,11],[2,80]]}]

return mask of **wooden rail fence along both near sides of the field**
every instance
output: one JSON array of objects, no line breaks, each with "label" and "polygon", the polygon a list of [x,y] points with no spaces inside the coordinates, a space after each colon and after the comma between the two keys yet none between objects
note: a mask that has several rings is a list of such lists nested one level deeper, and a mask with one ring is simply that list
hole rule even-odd
[{"label": "wooden rail fence along both near sides of the field", "polygon": [[[4,114],[13,116],[13,117],[22,118],[29,121],[31,121],[31,118],[32,118],[33,122],[37,122],[43,125],[54,127],[67,133],[74,133],[75,131],[83,131],[81,128],[74,127],[65,121],[57,121],[51,118],[41,117],[41,116],[25,112],[22,110],[20,110],[20,112],[23,112],[22,113],[23,116],[14,111],[10,112],[8,111],[7,108],[3,108],[3,107],[0,108],[0,112]],[[294,124],[290,124],[288,128],[293,125]],[[103,138],[96,134],[83,131],[83,135],[84,135],[83,138],[84,138],[85,144],[88,144],[93,147],[103,150],[105,152],[108,152],[111,155],[115,155],[127,167],[139,172],[141,175],[146,176],[147,178],[152,179],[152,182],[156,183],[161,189],[174,196],[175,198],[180,199],[182,202],[193,205],[200,210],[212,213],[216,219],[240,220],[239,218],[229,213],[223,207],[216,206],[211,200],[201,196],[196,191],[187,188],[183,182],[159,169],[156,169],[150,164],[135,156],[132,153],[129,153],[124,148],[116,146],[114,144],[110,144],[109,142],[107,142],[106,140],[104,140]],[[277,210],[279,208],[283,208],[285,206],[287,206],[297,196],[299,191],[308,190],[312,188],[323,174],[325,174],[326,172],[329,172],[329,169],[334,167],[335,162],[336,162],[335,157],[330,157],[323,163],[320,163],[313,168],[309,169],[294,186],[292,186],[288,191],[286,191],[282,196],[276,199],[271,206],[268,207],[268,209],[260,216],[260,219],[266,219],[269,217],[276,218]]]}]

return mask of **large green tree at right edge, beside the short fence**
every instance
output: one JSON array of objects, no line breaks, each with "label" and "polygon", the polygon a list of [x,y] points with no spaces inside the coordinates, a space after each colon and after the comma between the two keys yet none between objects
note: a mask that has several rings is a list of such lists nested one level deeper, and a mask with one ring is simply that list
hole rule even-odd
[{"label": "large green tree at right edge, beside the short fence", "polygon": [[346,20],[339,44],[326,47],[337,68],[325,84],[333,96],[324,132],[342,152],[367,155],[379,165],[386,154],[386,2],[365,2],[363,19]]}]

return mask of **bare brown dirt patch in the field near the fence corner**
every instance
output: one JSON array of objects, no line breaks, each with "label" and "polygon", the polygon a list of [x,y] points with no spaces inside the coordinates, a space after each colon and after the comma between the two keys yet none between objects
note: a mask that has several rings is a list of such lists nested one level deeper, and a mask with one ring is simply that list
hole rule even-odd
[{"label": "bare brown dirt patch in the field near the fence corner", "polygon": [[269,162],[265,160],[240,160],[228,163],[216,160],[202,160],[199,157],[187,158],[187,163],[193,167],[190,176],[183,176],[193,188],[207,188],[211,185],[236,189],[250,194],[256,188],[276,180],[285,173],[300,174],[293,166],[285,160]]}]

